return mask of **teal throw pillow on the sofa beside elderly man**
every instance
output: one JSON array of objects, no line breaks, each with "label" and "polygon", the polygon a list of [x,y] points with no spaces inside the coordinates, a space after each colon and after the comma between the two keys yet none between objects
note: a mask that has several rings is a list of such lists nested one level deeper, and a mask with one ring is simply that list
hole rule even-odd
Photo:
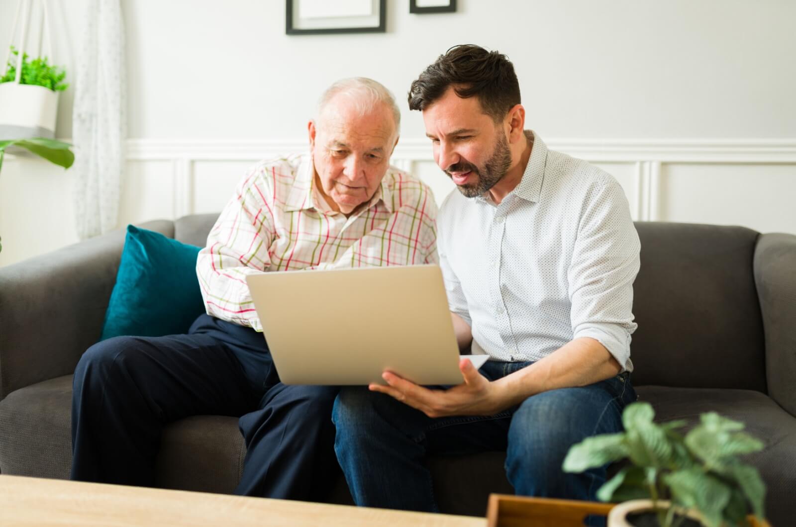
[{"label": "teal throw pillow on the sofa beside elderly man", "polygon": [[205,313],[197,279],[201,248],[127,225],[102,338],[187,333]]}]

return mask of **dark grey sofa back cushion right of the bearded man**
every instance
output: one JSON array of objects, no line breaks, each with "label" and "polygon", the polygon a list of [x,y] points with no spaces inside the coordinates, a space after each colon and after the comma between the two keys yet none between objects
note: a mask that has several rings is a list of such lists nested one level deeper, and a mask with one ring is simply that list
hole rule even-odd
[{"label": "dark grey sofa back cushion right of the bearded man", "polygon": [[752,271],[759,232],[658,222],[636,228],[642,251],[633,291],[634,385],[766,392]]}]

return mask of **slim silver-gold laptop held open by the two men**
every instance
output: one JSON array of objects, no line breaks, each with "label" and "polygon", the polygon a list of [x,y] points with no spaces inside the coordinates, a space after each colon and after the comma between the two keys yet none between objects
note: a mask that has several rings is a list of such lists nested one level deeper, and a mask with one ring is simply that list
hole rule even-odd
[{"label": "slim silver-gold laptop held open by the two men", "polygon": [[[458,345],[436,265],[249,275],[279,378],[287,385],[458,385]],[[486,355],[467,356],[478,368]]]}]

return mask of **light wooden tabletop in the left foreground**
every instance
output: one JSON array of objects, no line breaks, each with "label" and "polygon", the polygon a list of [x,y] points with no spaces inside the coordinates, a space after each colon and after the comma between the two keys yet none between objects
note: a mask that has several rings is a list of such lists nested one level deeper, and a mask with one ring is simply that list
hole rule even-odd
[{"label": "light wooden tabletop in the left foreground", "polygon": [[0,525],[486,527],[486,518],[0,474]]}]

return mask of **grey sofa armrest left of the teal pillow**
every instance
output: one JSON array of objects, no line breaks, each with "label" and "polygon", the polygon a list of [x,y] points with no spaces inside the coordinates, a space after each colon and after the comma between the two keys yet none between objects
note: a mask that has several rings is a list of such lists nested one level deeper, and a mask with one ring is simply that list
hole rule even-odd
[{"label": "grey sofa armrest left of the teal pillow", "polygon": [[[174,236],[174,222],[143,228]],[[124,229],[0,267],[0,400],[75,371],[100,338]]]}]

